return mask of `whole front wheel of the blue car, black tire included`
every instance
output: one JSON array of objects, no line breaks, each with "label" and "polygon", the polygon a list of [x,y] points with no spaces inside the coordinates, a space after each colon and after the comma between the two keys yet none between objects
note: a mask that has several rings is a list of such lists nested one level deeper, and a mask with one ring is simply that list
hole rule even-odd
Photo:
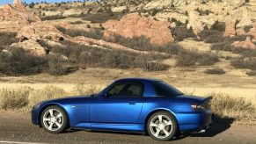
[{"label": "whole front wheel of the blue car, black tire included", "polygon": [[52,105],[41,113],[40,124],[49,133],[62,133],[68,126],[68,118],[60,106]]}]

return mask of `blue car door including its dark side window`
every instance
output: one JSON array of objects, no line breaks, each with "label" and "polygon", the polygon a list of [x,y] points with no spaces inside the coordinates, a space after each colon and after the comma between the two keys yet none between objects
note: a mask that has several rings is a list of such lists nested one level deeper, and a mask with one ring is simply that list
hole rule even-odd
[{"label": "blue car door including its dark side window", "polygon": [[90,104],[91,123],[135,124],[143,107],[142,83],[114,83]]}]

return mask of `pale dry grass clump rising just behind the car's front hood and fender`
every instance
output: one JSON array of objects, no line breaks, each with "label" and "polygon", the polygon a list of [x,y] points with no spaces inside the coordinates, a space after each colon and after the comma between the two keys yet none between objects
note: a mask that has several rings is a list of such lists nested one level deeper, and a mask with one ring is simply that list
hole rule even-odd
[{"label": "pale dry grass clump rising just behind the car's front hood and fender", "polygon": [[40,90],[33,90],[29,93],[28,106],[31,108],[35,104],[39,104],[42,101],[46,101],[49,99],[55,99],[59,97],[67,97],[68,93],[62,88],[48,85]]}]

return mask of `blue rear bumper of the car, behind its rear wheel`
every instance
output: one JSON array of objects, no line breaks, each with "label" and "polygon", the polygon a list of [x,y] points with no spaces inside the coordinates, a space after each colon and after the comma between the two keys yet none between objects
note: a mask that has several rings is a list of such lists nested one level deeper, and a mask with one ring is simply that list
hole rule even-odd
[{"label": "blue rear bumper of the car, behind its rear wheel", "polygon": [[196,112],[178,114],[178,123],[180,132],[200,132],[211,127],[213,114],[210,110],[207,112]]}]

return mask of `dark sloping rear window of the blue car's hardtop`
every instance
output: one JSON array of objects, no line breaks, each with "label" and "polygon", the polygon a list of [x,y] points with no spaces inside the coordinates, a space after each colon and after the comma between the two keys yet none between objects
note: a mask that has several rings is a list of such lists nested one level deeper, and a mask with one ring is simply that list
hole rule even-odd
[{"label": "dark sloping rear window of the blue car's hardtop", "polygon": [[183,95],[181,91],[174,88],[172,85],[162,81],[155,82],[154,87],[157,92],[157,96],[159,97],[174,97],[174,96]]}]

